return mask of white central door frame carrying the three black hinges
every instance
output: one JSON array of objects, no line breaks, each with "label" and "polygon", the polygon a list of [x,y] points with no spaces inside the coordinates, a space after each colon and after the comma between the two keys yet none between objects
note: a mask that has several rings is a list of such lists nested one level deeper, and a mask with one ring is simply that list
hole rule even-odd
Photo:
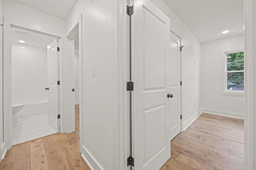
[{"label": "white central door frame carrying the three black hinges", "polygon": [[[126,6],[131,0],[118,0],[118,141],[119,148],[113,165],[119,160],[118,169],[130,170],[127,166],[127,158],[130,156],[130,113],[129,92],[126,91],[126,82],[129,81],[129,16]],[[113,152],[114,153],[114,152]]]}]

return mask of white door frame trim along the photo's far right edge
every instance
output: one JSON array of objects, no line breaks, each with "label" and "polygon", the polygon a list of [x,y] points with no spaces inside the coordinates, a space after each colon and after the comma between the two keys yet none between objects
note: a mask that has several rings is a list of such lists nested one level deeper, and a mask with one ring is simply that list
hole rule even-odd
[{"label": "white door frame trim along the photo's far right edge", "polygon": [[[246,60],[244,60],[244,169],[252,170],[256,168],[254,158],[256,156],[255,150],[255,140],[256,133],[254,129],[254,122],[256,117],[254,116],[255,107],[253,100],[255,99],[253,95],[253,81],[255,81],[255,72],[253,72],[253,55],[255,55],[255,50],[253,50],[253,45],[255,45],[255,37],[253,28],[255,27],[255,13],[253,12],[253,7],[255,3],[253,0],[244,0],[244,55]],[[254,91],[255,94],[255,91]]]}]

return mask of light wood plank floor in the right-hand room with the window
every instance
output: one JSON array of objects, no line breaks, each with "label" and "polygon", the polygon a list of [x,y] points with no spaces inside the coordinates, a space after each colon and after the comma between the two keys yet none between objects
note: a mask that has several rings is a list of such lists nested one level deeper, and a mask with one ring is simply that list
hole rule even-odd
[{"label": "light wood plank floor in the right-hand room with the window", "polygon": [[202,113],[171,141],[160,170],[244,170],[244,120]]}]

